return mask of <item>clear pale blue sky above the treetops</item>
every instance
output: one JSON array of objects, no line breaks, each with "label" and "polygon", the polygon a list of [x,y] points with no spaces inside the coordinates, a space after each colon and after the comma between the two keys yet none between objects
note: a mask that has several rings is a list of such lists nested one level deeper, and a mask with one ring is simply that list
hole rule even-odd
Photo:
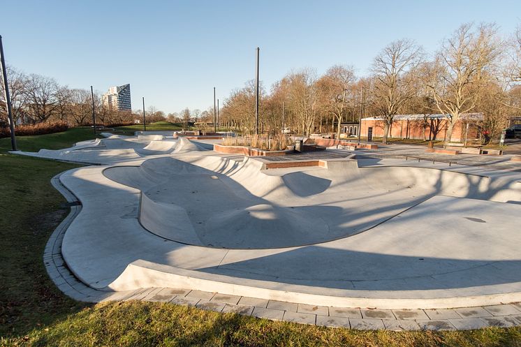
[{"label": "clear pale blue sky above the treetops", "polygon": [[392,40],[427,52],[464,22],[521,23],[521,1],[8,1],[0,0],[8,64],[71,88],[131,84],[132,106],[205,110],[254,78],[334,64],[367,75]]}]

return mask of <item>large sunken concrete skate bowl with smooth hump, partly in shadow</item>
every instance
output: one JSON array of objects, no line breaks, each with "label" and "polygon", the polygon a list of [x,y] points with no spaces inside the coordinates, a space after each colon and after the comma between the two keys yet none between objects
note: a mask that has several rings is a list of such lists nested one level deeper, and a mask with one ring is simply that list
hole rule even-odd
[{"label": "large sunken concrete skate bowl with smooth hump, partly in shadow", "polygon": [[[484,200],[491,211],[497,211],[494,202],[521,202],[521,184],[515,179],[430,168],[359,168],[353,159],[288,172],[263,170],[263,163],[251,158],[163,157],[108,168],[103,175],[141,191],[139,221],[149,232],[223,249],[279,249],[350,237],[409,210],[408,218],[416,218],[414,208],[435,195]],[[430,212],[421,210],[418,219],[425,213],[480,219],[432,206]]]}]

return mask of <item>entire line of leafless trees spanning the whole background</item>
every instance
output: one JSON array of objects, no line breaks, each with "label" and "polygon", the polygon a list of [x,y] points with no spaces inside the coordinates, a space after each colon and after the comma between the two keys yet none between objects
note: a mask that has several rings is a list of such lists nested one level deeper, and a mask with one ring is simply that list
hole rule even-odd
[{"label": "entire line of leafless trees spanning the whole background", "polygon": [[[63,121],[70,126],[91,124],[92,99],[87,89],[60,86],[42,75],[26,75],[8,68],[15,124]],[[521,25],[502,38],[495,24],[462,24],[443,40],[434,54],[409,39],[396,40],[374,57],[369,75],[358,77],[355,68],[335,65],[323,75],[313,68],[291,71],[275,82],[270,91],[260,85],[259,125],[262,133],[281,128],[310,135],[335,132],[342,121],[378,117],[383,142],[399,114],[448,115],[446,140],[462,115],[483,112],[480,128],[497,138],[508,117],[521,113]],[[2,86],[0,85],[0,88]],[[6,124],[3,90],[0,95],[0,125]],[[219,126],[242,133],[255,131],[255,87],[248,81],[223,102]],[[94,95],[99,124],[129,124],[142,119],[142,110],[111,111]],[[210,126],[214,110],[189,110],[166,115],[154,106],[147,109],[147,122],[167,120],[186,128]]]}]

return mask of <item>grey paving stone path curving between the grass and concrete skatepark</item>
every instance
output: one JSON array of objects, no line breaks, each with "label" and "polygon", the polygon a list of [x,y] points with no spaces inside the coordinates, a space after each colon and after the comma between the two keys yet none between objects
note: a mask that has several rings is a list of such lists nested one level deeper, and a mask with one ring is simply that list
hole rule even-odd
[{"label": "grey paving stone path curving between the grass and concrete skatepark", "polygon": [[170,302],[221,313],[358,330],[469,330],[487,326],[521,325],[520,302],[459,309],[388,310],[322,307],[182,288],[140,288],[121,292],[95,290],[78,281],[61,257],[64,233],[82,207],[78,199],[61,185],[58,177],[59,175],[52,179],[52,185],[66,197],[71,213],[52,233],[45,246],[43,260],[52,281],[64,294],[75,300]]}]

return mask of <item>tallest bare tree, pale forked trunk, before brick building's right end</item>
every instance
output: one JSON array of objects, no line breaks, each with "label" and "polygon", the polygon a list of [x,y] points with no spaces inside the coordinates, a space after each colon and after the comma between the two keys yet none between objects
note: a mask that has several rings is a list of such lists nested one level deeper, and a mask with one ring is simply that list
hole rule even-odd
[{"label": "tallest bare tree, pale forked trunk, before brick building's right end", "polygon": [[436,78],[429,83],[436,108],[448,114],[445,147],[463,114],[476,107],[479,90],[494,61],[499,57],[494,24],[463,24],[443,43],[436,58]]}]

